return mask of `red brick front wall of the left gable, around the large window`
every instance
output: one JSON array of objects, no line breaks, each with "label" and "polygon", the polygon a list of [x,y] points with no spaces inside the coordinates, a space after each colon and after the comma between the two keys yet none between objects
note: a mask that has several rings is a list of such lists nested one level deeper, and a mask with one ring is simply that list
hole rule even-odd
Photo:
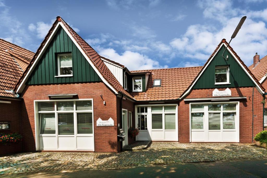
[{"label": "red brick front wall of the left gable, around the large window", "polygon": [[[117,152],[117,112],[116,95],[103,82],[69,83],[26,86],[22,92],[22,131],[24,151],[34,151],[34,100],[48,100],[49,94],[78,94],[79,99],[93,99],[94,136],[96,152]],[[103,99],[106,105],[103,104]],[[114,120],[114,126],[97,127],[98,118]]]}]

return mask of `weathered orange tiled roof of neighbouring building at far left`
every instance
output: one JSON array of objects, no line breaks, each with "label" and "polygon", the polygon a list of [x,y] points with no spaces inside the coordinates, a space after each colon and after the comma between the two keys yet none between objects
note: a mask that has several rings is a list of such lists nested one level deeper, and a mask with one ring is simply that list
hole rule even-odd
[{"label": "weathered orange tiled roof of neighbouring building at far left", "polygon": [[0,96],[16,97],[12,92],[34,52],[0,39]]}]

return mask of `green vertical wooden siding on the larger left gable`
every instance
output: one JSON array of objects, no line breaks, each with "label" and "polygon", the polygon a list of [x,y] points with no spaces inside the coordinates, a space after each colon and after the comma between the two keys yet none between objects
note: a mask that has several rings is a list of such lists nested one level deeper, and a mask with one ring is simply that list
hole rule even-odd
[{"label": "green vertical wooden siding on the larger left gable", "polygon": [[[72,53],[73,76],[58,76],[57,54]],[[37,66],[30,75],[27,84],[52,84],[101,81],[95,70],[85,59],[80,50],[72,42],[66,32],[60,27],[50,42]]]}]

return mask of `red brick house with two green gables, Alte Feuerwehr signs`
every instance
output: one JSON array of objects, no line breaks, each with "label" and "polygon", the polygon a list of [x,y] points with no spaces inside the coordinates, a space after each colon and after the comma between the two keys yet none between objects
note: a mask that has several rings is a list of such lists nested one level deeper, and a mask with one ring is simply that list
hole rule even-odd
[{"label": "red brick house with two green gables, Alte Feuerwehr signs", "polygon": [[134,140],[251,143],[263,127],[265,89],[230,46],[222,58],[226,45],[202,67],[129,71],[57,17],[13,86],[23,151],[120,152]]}]

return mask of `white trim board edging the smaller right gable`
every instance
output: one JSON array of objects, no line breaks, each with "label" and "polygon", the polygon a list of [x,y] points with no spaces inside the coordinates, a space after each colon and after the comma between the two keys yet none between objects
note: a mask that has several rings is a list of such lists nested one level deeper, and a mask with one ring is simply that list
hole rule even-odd
[{"label": "white trim board edging the smaller right gable", "polygon": [[[219,47],[219,49],[222,46],[226,47],[225,43],[222,43],[221,46]],[[215,52],[215,54],[212,56],[212,58],[209,60],[209,62],[207,63],[207,65],[204,67],[204,69],[201,71],[201,73],[198,75],[197,79],[194,81],[194,83],[190,86],[189,89],[186,90],[186,92],[179,98],[182,99],[184,98],[193,88],[193,86],[195,85],[195,83],[198,81],[198,79],[200,78],[200,76],[203,74],[203,72],[206,70],[206,68],[209,66],[210,62],[213,60],[214,56],[216,56],[216,54],[218,53],[219,49]],[[237,61],[237,63],[239,64],[239,66],[241,66],[241,68],[246,72],[246,74],[249,76],[249,78],[253,81],[253,83],[256,85],[257,90],[261,93],[264,94],[264,91],[262,91],[261,87],[257,84],[257,82],[252,78],[252,76],[249,74],[249,72],[244,68],[244,66],[240,63],[240,61],[236,58],[236,56],[233,54],[233,52],[231,50],[229,50],[229,48],[227,48],[227,50],[230,52],[230,54],[234,57],[234,59]]]}]

